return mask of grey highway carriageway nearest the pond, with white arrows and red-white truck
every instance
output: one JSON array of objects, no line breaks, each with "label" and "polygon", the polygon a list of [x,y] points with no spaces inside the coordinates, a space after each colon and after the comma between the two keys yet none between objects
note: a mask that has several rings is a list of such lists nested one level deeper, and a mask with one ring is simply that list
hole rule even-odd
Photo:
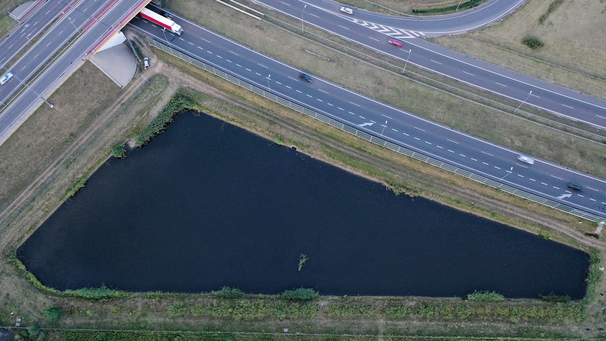
[{"label": "grey highway carriageway nearest the pond, with white arrows and red-white truck", "polygon": [[[315,76],[313,82],[305,82],[295,67],[174,13],[173,19],[184,29],[181,36],[139,16],[129,25],[192,58],[373,136],[528,193],[606,217],[606,182],[602,179],[541,160],[534,165],[524,164],[516,159],[518,152],[514,150],[419,118]],[[585,190],[570,190],[569,182],[580,184]]]}]

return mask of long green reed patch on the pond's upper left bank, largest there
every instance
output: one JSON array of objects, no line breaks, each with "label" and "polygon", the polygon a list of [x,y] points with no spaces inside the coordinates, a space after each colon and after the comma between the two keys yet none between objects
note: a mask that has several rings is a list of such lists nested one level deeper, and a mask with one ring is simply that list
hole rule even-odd
[{"label": "long green reed patch on the pond's upper left bank, largest there", "polygon": [[201,107],[185,94],[176,93],[153,121],[137,136],[135,147],[141,148],[162,133],[173,118],[183,110],[201,111]]}]

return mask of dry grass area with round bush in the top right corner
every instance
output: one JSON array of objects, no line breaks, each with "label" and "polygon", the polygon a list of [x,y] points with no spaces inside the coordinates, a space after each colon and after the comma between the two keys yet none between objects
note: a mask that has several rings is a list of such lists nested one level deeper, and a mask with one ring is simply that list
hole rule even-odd
[{"label": "dry grass area with round bush in the top right corner", "polygon": [[[529,76],[606,98],[606,82],[551,67],[471,39],[487,41],[542,61],[606,79],[606,3],[565,1],[541,24],[539,18],[548,12],[551,2],[553,0],[527,1],[502,22],[465,36],[444,36],[432,40],[452,50]],[[545,44],[544,47],[533,50],[522,44],[527,36],[539,38]]]}]

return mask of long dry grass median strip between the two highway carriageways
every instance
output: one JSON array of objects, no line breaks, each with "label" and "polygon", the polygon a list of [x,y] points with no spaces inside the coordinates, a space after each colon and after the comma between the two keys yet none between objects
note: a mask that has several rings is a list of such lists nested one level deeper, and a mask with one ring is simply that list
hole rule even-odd
[{"label": "long dry grass median strip between the two highway carriageways", "polygon": [[[522,153],[606,177],[604,145],[582,141],[481,105],[461,101],[449,94],[312,44],[272,25],[241,15],[215,1],[206,0],[201,6],[175,0],[170,2],[170,9],[288,64],[395,107]],[[225,20],[227,17],[233,20]],[[209,44],[202,44],[202,47],[212,48]],[[330,58],[333,62],[311,56],[305,50]],[[338,60],[335,61],[336,58]]]}]

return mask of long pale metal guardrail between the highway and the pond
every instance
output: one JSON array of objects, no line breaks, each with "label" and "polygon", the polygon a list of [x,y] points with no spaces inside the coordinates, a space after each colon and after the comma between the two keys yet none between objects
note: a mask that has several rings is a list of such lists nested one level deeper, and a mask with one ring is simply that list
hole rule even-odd
[{"label": "long pale metal guardrail between the highway and the pond", "polygon": [[498,188],[499,190],[505,191],[510,194],[514,194],[515,196],[519,196],[524,199],[531,200],[538,204],[545,205],[545,206],[548,206],[551,208],[555,208],[556,210],[564,211],[565,213],[572,214],[573,216],[591,220],[592,222],[596,222],[596,223],[601,223],[601,222],[606,221],[606,219],[596,216],[594,214],[585,213],[583,211],[577,210],[576,208],[569,207],[567,205],[562,205],[562,204],[559,204],[558,202],[554,202],[553,200],[545,199],[543,197],[539,197],[534,194],[530,194],[525,191],[510,187],[508,185],[500,184],[499,182],[488,179],[484,176],[480,176],[478,174],[471,173],[470,171],[463,170],[458,167],[454,167],[453,165],[446,164],[445,162],[442,162],[442,161],[433,159],[431,157],[425,156],[423,154],[417,153],[416,151],[412,151],[408,148],[392,144],[391,142],[385,141],[383,139],[379,139],[378,137],[375,137],[375,136],[371,136],[370,134],[364,133],[364,131],[360,131],[356,128],[342,124],[341,122],[328,118],[327,116],[324,116],[323,114],[316,113],[316,111],[309,110],[308,108],[302,107],[301,105],[287,101],[286,99],[280,98],[280,97],[276,96],[275,94],[268,93],[267,91],[262,90],[261,88],[255,87],[254,85],[241,81],[240,79],[235,78],[234,76],[231,76],[231,74],[225,73],[224,71],[218,70],[215,67],[211,67],[210,65],[204,64],[201,61],[193,59],[190,56],[185,55],[184,53],[181,53],[180,51],[175,50],[174,48],[171,48],[167,45],[162,44],[161,42],[157,42],[149,37],[147,38],[147,40],[150,42],[151,46],[159,48],[160,50],[165,51],[166,53],[170,53],[171,55],[176,56],[179,59],[182,59],[183,61],[186,61],[192,65],[195,65],[196,67],[199,67],[205,71],[213,73],[216,76],[219,76],[223,79],[227,79],[227,81],[237,84],[240,87],[243,87],[247,90],[252,91],[253,93],[259,94],[260,96],[263,96],[264,98],[271,99],[271,101],[282,104],[285,107],[299,111],[299,113],[306,114],[307,116],[311,116],[322,122],[330,124],[333,127],[339,128],[343,131],[347,131],[350,134],[361,137],[362,139],[365,139],[366,141],[370,141],[370,142],[373,142],[374,144],[378,144],[381,147],[389,148],[398,153],[413,157],[419,161],[442,168],[443,170],[451,171],[452,173],[467,177],[468,179],[475,180],[477,182],[481,182],[482,184],[488,185],[493,188]]}]

